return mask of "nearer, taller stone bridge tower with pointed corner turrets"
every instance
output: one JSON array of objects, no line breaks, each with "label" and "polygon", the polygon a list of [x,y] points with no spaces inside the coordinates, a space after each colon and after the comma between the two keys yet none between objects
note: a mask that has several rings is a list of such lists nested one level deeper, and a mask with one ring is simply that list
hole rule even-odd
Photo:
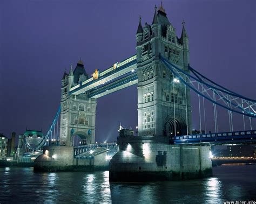
[{"label": "nearer, taller stone bridge tower with pointed corner turrets", "polygon": [[143,27],[139,19],[136,39],[139,136],[190,133],[190,89],[159,60],[161,54],[188,72],[190,51],[184,23],[178,38],[161,5],[158,11],[155,8],[152,25],[145,23]]}]

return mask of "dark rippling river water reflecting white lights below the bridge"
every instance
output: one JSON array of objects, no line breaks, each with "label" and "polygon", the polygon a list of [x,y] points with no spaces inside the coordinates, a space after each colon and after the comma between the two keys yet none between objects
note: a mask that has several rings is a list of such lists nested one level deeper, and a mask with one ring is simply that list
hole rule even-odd
[{"label": "dark rippling river water reflecting white lights below the bridge", "polygon": [[0,203],[221,203],[256,201],[256,165],[213,167],[201,180],[109,183],[109,172],[0,168]]}]

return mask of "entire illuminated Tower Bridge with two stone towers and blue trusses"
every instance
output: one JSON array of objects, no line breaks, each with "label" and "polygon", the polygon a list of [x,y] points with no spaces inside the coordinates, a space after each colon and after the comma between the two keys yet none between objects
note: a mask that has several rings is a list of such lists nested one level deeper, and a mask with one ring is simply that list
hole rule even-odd
[{"label": "entire illuminated Tower Bridge with two stone towers and blue trusses", "polygon": [[[44,154],[36,159],[37,167],[46,168],[45,164],[63,166],[62,160],[72,166],[74,152],[76,159],[79,154],[85,159],[92,156],[88,152],[92,151],[90,148],[99,147],[95,143],[97,100],[132,85],[138,88],[138,135],[118,137],[118,149],[112,148],[117,153],[110,160],[113,180],[124,178],[125,175],[138,178],[138,175],[151,173],[166,177],[170,172],[173,173],[171,178],[174,178],[174,174],[183,177],[183,173],[187,178],[210,175],[211,161],[207,145],[241,141],[255,143],[253,119],[256,117],[256,101],[218,85],[190,66],[185,23],[178,37],[161,5],[159,9],[155,8],[151,25],[145,23],[142,26],[142,19],[139,19],[135,55],[115,62],[102,72],[96,69],[91,77],[86,73],[82,60],[78,61],[74,71],[71,67],[69,73],[64,73],[60,108],[43,142],[33,147],[33,150],[39,150],[45,146]],[[198,95],[200,133],[197,135],[191,131],[192,93]],[[213,133],[205,133],[206,102],[213,105]],[[217,107],[218,111],[227,112],[228,130],[224,132],[219,132]],[[234,114],[241,116],[244,130],[234,131]],[[250,123],[248,130],[246,118]],[[84,141],[83,145],[77,144],[75,150],[74,136]],[[52,139],[58,140],[60,146],[48,146]],[[200,146],[194,147],[195,144]],[[109,151],[104,145],[100,148],[103,153]],[[57,154],[54,153],[56,151]],[[65,152],[68,152],[68,156]],[[71,160],[66,161],[66,158]],[[79,164],[80,160],[76,162]]]}]

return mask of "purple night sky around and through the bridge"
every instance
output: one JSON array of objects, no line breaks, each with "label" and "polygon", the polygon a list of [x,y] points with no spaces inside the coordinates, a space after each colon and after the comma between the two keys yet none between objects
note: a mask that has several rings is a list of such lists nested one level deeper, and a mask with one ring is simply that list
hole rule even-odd
[{"label": "purple night sky around and through the bridge", "polygon": [[[45,133],[60,102],[65,67],[81,57],[91,75],[136,53],[139,15],[143,25],[151,24],[155,4],[160,1],[0,0],[0,132],[10,137],[28,127]],[[256,1],[172,0],[163,6],[178,36],[186,22],[191,66],[255,99]],[[199,129],[195,94],[192,102]],[[213,132],[212,105],[207,111],[207,131]],[[227,131],[227,111],[218,112],[219,130]],[[119,122],[135,129],[137,87],[98,99],[96,115],[98,142],[116,140]],[[241,118],[235,129],[242,130]]]}]

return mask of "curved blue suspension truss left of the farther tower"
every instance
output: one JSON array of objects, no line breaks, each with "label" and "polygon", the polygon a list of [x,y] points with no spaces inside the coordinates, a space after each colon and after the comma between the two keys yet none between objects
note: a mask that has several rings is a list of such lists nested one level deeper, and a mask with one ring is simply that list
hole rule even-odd
[{"label": "curved blue suspension truss left of the farther tower", "polygon": [[59,114],[60,114],[60,106],[58,108],[58,111],[52,121],[52,124],[49,128],[49,130],[47,131],[46,135],[43,137],[43,139],[41,140],[41,142],[35,146],[35,147],[32,147],[27,141],[26,141],[26,137],[24,138],[24,142],[26,144],[26,146],[31,150],[31,151],[36,151],[36,150],[41,150],[43,146],[45,146],[47,140],[49,139],[53,129],[55,128],[55,125],[57,123],[57,120],[58,120],[58,117],[59,117]]}]

